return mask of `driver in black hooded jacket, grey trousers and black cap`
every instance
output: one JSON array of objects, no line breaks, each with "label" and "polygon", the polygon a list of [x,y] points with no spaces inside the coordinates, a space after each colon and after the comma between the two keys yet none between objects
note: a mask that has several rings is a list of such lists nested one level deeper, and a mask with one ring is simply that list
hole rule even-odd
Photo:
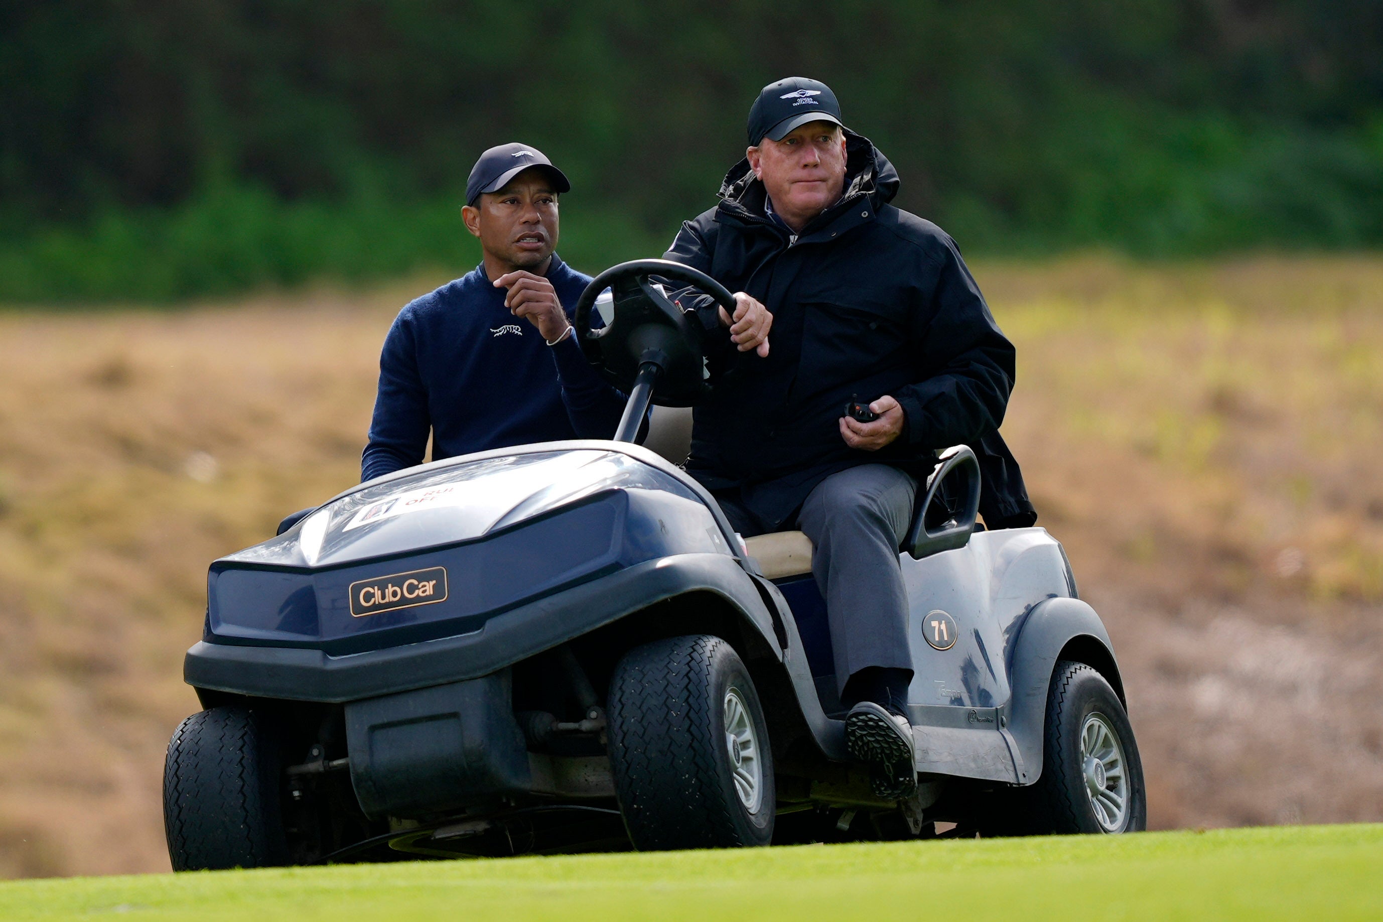
[{"label": "driver in black hooded jacket, grey trousers and black cap", "polygon": [[[719,205],[685,223],[667,253],[737,301],[727,317],[682,299],[703,317],[715,382],[694,411],[687,471],[741,534],[801,528],[812,539],[838,690],[853,705],[851,751],[877,793],[902,798],[916,773],[898,547],[917,481],[949,445],[972,445],[986,481],[1000,481],[986,489],[992,527],[1036,518],[997,433],[1014,347],[954,241],[889,205],[898,173],[845,129],[830,87],[765,87],[748,142]],[[875,420],[842,412],[856,397]]]}]

